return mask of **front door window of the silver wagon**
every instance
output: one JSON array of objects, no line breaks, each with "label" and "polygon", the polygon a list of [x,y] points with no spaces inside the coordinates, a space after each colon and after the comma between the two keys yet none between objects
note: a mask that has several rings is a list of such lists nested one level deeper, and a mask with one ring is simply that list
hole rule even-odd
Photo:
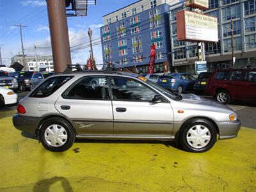
[{"label": "front door window of the silver wagon", "polygon": [[111,91],[113,100],[150,101],[157,95],[144,84],[124,77],[113,77]]}]

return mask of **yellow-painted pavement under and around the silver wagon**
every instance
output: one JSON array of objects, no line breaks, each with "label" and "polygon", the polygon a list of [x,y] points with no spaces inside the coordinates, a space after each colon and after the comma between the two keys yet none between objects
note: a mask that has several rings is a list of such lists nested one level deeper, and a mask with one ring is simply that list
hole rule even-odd
[{"label": "yellow-painted pavement under and around the silver wagon", "polygon": [[77,140],[54,153],[15,129],[15,107],[6,107],[0,110],[0,191],[256,191],[256,108],[230,107],[242,122],[239,136],[203,154],[167,141],[102,140]]}]

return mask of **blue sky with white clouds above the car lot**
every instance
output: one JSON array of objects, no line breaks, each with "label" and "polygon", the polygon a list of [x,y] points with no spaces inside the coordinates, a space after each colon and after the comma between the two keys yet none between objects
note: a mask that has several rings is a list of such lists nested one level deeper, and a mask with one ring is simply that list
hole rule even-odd
[{"label": "blue sky with white clouds above the car lot", "polygon": [[[92,0],[88,0],[92,1]],[[93,42],[99,42],[102,16],[118,10],[137,0],[97,0],[97,4],[88,5],[86,17],[68,17],[72,63],[86,63],[89,56],[88,28],[93,29]],[[38,56],[51,55],[51,37],[45,0],[0,0],[0,45],[3,65],[10,65],[10,58],[21,54],[20,32],[14,25],[22,24],[25,54]],[[83,45],[80,45],[83,44]],[[79,46],[76,46],[79,45]],[[75,46],[75,47],[74,47]],[[44,47],[44,48],[43,48]],[[84,48],[84,49],[80,49]],[[96,63],[102,62],[101,45],[93,46]]]}]

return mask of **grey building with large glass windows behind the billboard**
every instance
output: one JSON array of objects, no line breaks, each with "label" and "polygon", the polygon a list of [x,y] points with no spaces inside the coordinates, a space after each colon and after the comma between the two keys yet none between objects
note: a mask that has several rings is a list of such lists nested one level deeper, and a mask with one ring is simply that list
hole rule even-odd
[{"label": "grey building with large glass windows behind the billboard", "polygon": [[[191,9],[191,8],[190,8]],[[195,74],[197,44],[177,41],[176,13],[185,8],[185,3],[170,6],[170,39],[172,65],[177,72]],[[205,43],[205,60],[208,70],[232,66],[231,20],[234,31],[234,67],[256,67],[256,0],[209,0],[207,15],[218,18],[219,42]]]}]

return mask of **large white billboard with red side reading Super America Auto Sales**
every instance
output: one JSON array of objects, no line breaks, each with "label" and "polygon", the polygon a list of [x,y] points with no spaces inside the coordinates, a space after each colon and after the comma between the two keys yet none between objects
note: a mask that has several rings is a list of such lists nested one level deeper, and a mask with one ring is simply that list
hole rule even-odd
[{"label": "large white billboard with red side reading Super America Auto Sales", "polygon": [[218,20],[201,13],[177,13],[177,40],[191,42],[218,42]]}]

